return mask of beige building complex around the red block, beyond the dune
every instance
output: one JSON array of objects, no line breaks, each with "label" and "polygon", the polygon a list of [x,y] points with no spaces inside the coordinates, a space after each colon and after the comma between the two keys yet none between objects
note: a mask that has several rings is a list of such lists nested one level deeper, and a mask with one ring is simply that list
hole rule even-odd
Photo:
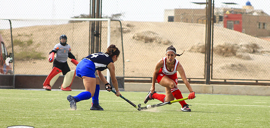
[{"label": "beige building complex around the red block, beyond the dune", "polygon": [[[224,14],[241,14],[240,20],[242,21],[240,32],[242,33],[256,37],[270,36],[270,16],[267,13],[264,13],[262,10],[254,10],[252,6],[243,6],[243,8],[215,8],[214,23],[223,26],[225,24],[223,19],[226,18],[224,17]],[[187,22],[205,24],[205,16],[205,9],[165,10],[164,22]],[[233,27],[229,27],[229,29],[234,30]]]}]

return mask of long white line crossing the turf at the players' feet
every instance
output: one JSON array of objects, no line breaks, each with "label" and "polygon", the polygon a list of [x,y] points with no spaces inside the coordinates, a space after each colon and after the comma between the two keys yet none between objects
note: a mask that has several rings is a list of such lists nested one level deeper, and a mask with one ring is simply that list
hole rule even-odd
[{"label": "long white line crossing the turf at the players' feet", "polygon": [[[17,97],[0,97],[0,98],[7,98],[7,99],[57,99],[57,100],[67,100],[67,99],[60,99],[60,98],[17,98]],[[112,101],[112,100],[99,100],[99,101]],[[126,101],[113,101],[113,102],[126,102]],[[132,101],[133,103],[142,103],[142,101]],[[154,103],[161,103],[161,102],[152,102]],[[152,104],[151,103],[151,104]],[[192,104],[199,104],[199,105],[232,105],[232,106],[259,106],[259,107],[270,107],[266,105],[238,105],[238,104],[212,104],[212,103],[192,103]]]}]

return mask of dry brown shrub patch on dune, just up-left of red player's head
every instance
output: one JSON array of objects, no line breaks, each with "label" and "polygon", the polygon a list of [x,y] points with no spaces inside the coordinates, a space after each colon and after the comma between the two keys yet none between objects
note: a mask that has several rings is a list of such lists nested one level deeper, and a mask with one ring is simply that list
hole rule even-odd
[{"label": "dry brown shrub patch on dune, just up-left of red player's head", "polygon": [[162,37],[158,35],[158,33],[152,32],[152,31],[143,31],[140,33],[135,33],[132,37],[133,39],[143,41],[145,43],[158,43],[158,44],[170,44],[171,42],[169,40],[164,40]]}]

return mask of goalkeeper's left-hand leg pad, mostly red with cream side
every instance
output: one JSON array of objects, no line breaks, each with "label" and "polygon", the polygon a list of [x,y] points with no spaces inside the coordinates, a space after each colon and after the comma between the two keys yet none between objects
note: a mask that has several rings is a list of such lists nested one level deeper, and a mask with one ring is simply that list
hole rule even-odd
[{"label": "goalkeeper's left-hand leg pad, mostly red with cream side", "polygon": [[60,76],[61,72],[62,71],[59,68],[53,67],[52,68],[52,71],[49,73],[49,75],[47,76],[46,80],[44,81],[43,86],[44,87],[46,87],[46,86],[52,87],[53,84],[55,83],[55,81]]}]

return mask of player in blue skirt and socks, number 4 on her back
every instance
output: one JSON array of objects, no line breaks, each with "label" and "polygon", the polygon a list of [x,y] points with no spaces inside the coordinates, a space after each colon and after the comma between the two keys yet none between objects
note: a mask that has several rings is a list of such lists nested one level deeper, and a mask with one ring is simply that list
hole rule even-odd
[{"label": "player in blue skirt and socks, number 4 on her back", "polygon": [[121,93],[118,90],[118,83],[115,77],[115,66],[114,62],[117,61],[120,51],[115,45],[110,45],[107,48],[107,52],[99,52],[90,54],[89,56],[82,59],[76,67],[76,75],[83,80],[85,86],[85,92],[81,92],[76,96],[67,96],[67,100],[70,102],[70,108],[73,110],[77,109],[76,103],[81,100],[88,100],[92,97],[92,106],[90,110],[104,110],[98,102],[99,96],[99,80],[95,76],[95,71],[98,73],[98,77],[103,83],[107,91],[111,91],[112,86],[107,82],[101,71],[109,69],[110,76],[114,88],[116,89],[116,96],[120,96]]}]

